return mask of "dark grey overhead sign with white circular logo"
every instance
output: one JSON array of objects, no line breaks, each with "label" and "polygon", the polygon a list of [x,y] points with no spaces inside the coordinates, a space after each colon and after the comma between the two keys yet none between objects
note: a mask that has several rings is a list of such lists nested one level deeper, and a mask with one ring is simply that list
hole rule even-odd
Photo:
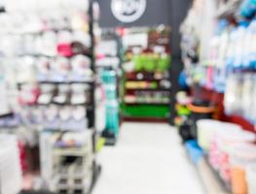
[{"label": "dark grey overhead sign with white circular logo", "polygon": [[[117,26],[155,26],[169,24],[170,0],[97,0],[101,16],[101,27]],[[122,2],[121,2],[122,1]],[[178,1],[178,0],[176,0]],[[143,2],[146,2],[145,4]],[[117,6],[117,13],[113,13],[113,6]],[[127,7],[123,7],[127,5]],[[143,7],[145,5],[145,11]],[[120,6],[120,7],[119,7]],[[123,18],[119,19],[118,16]],[[124,20],[127,19],[126,21]]]}]

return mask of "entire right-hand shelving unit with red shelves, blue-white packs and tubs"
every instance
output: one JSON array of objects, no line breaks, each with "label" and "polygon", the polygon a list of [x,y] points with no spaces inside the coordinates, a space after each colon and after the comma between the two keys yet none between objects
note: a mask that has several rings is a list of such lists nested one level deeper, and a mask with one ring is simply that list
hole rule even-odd
[{"label": "entire right-hand shelving unit with red shelves, blue-white packs and tubs", "polygon": [[[186,147],[192,143],[196,145],[191,147],[191,152],[199,157],[196,166],[206,193],[248,193],[247,187],[250,187],[250,180],[245,178],[249,172],[245,169],[255,162],[252,155],[256,133],[256,114],[253,111],[256,105],[256,66],[255,58],[250,57],[255,52],[255,44],[252,44],[255,42],[252,38],[254,7],[253,1],[195,0],[180,29],[184,63],[184,77],[180,82],[186,82],[183,86],[187,96],[183,96],[183,100],[187,102],[180,105],[185,110],[183,113],[177,108],[180,111],[177,123],[180,122],[180,135]],[[197,19],[201,23],[196,22]],[[207,30],[201,30],[203,28]],[[179,99],[182,99],[180,94]],[[198,107],[202,108],[198,114],[215,119],[208,120],[209,123],[204,120],[205,126],[201,125],[204,121],[200,116],[195,116],[199,121],[193,117],[197,114],[196,109],[190,109],[191,104],[198,102],[201,103]],[[214,108],[215,112],[211,115],[204,112],[203,115],[207,110],[203,108]],[[223,127],[214,125],[214,122]],[[216,131],[210,135],[211,123]],[[234,126],[231,127],[234,131],[225,131],[229,130],[225,124]],[[239,147],[240,143],[246,143],[246,148]],[[240,169],[240,174],[236,173],[236,168]]]}]

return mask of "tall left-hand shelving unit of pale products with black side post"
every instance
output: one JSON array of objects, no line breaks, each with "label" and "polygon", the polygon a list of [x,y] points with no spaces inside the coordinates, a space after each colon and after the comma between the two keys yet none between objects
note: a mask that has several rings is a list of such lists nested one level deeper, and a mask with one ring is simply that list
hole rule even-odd
[{"label": "tall left-hand shelving unit of pale products with black side post", "polygon": [[[39,38],[46,36],[47,33],[53,33],[55,34],[55,36],[57,35],[60,36],[59,34],[62,33],[61,36],[62,38],[64,37],[63,38],[64,41],[62,40],[63,41],[63,43],[61,43],[62,45],[61,44],[57,45],[57,43],[55,43],[55,46],[54,46],[55,54],[46,54],[45,52],[41,53],[40,51],[42,51],[42,48],[38,49],[39,46],[37,46],[38,47],[37,49],[32,50],[32,52],[27,50],[22,50],[22,49],[29,48],[26,45],[27,48],[25,47],[20,48],[19,52],[15,53],[14,55],[7,54],[6,56],[5,55],[1,56],[2,59],[5,57],[6,59],[13,59],[13,58],[20,59],[20,61],[21,59],[30,59],[30,61],[32,61],[31,63],[34,63],[36,65],[38,65],[39,59],[42,60],[44,58],[47,61],[47,62],[44,61],[45,63],[43,64],[43,67],[42,67],[44,68],[43,70],[44,74],[41,75],[40,73],[42,72],[36,72],[31,70],[30,72],[31,74],[29,75],[31,76],[31,78],[27,78],[27,80],[25,81],[17,81],[16,83],[18,88],[18,101],[21,102],[20,110],[24,112],[23,113],[24,115],[26,116],[29,115],[29,117],[25,118],[26,125],[24,127],[33,128],[40,135],[40,139],[41,139],[40,154],[41,154],[41,173],[42,173],[41,176],[44,182],[44,187],[56,193],[67,193],[67,194],[68,193],[90,193],[96,179],[100,174],[100,169],[101,169],[101,167],[98,166],[96,161],[96,150],[95,150],[98,134],[95,129],[95,109],[96,109],[96,102],[95,102],[96,84],[95,84],[95,62],[94,62],[95,60],[95,57],[94,57],[94,49],[95,49],[94,22],[95,20],[93,18],[94,16],[93,2],[94,2],[93,0],[88,0],[88,4],[89,4],[88,10],[86,8],[81,8],[81,7],[74,8],[73,10],[71,9],[71,7],[69,8],[72,12],[77,12],[76,14],[79,13],[80,14],[79,16],[85,16],[83,17],[83,19],[86,19],[86,18],[89,19],[88,20],[89,23],[87,24],[83,23],[85,22],[85,20],[82,21],[82,24],[88,25],[89,31],[84,30],[83,27],[85,26],[83,27],[80,26],[81,28],[79,29],[77,28],[77,26],[75,28],[71,27],[71,25],[72,26],[74,25],[74,23],[72,23],[71,20],[69,20],[71,18],[74,19],[71,16],[68,16],[68,18],[64,19],[65,17],[64,15],[67,13],[60,12],[59,10],[61,10],[62,8],[66,8],[65,6],[66,4],[68,4],[68,1],[66,1],[65,2],[66,4],[65,3],[61,4],[61,6],[57,8],[59,10],[56,10],[56,13],[58,13],[59,16],[57,15],[56,16],[57,18],[52,18],[52,19],[53,20],[63,19],[61,21],[63,21],[65,24],[63,23],[62,24],[68,25],[68,27],[58,26],[58,28],[55,28],[53,26],[52,27],[40,26],[42,28],[38,28],[36,31],[25,30],[25,31],[22,31],[22,33],[16,33],[17,29],[14,29],[15,30],[14,33],[12,32],[8,33],[10,36],[15,36],[16,38],[18,37],[20,40],[25,38],[34,39],[35,41],[33,43],[31,42],[31,44],[36,44],[37,43],[36,40],[37,39],[39,40]],[[83,2],[76,2],[76,3],[83,4]],[[27,6],[31,6],[31,5],[27,5]],[[32,6],[32,8],[34,7]],[[55,8],[52,8],[52,9],[55,9]],[[83,13],[85,10],[87,10],[86,14]],[[16,12],[17,12],[16,14],[18,14],[19,10],[17,9]],[[36,13],[41,11],[36,9],[36,10],[32,10],[31,12]],[[23,10],[20,11],[19,14],[20,16],[25,15]],[[42,13],[37,13],[37,14],[38,15],[36,16],[42,16],[42,17],[44,16]],[[50,17],[45,18],[46,20],[44,20],[44,22],[50,23],[50,21],[47,20],[47,19],[50,19]],[[77,19],[81,19],[81,18],[77,18]],[[57,23],[60,24],[61,22],[59,21]],[[42,23],[38,23],[38,25],[40,24]],[[78,23],[78,24],[81,24],[81,23]],[[69,33],[71,38],[69,37]],[[81,41],[81,36],[82,36],[82,42],[85,41],[86,43],[79,42],[79,40]],[[90,37],[90,40],[87,39],[89,37]],[[72,41],[68,42],[67,40],[69,40],[69,38]],[[78,44],[78,42],[80,45]],[[75,44],[78,44],[79,46],[75,46]],[[32,47],[33,45],[30,45],[29,49],[31,49]],[[82,61],[81,61],[81,57],[80,57],[80,60],[76,61],[78,64],[75,64],[76,67],[74,66],[72,67],[73,68],[72,69],[71,60],[74,60],[75,58],[77,58],[77,56],[83,56],[84,58],[82,58]],[[64,73],[61,72],[60,70],[59,71],[55,70],[56,67],[54,67],[54,64],[58,59],[62,59],[61,61],[62,64],[59,64],[59,65],[62,68],[61,70],[62,71],[64,70]],[[28,64],[28,66],[29,65],[31,64]],[[84,68],[84,66],[82,67],[81,65],[82,66],[86,65],[87,67],[89,66],[89,68],[86,69],[87,71],[86,75],[83,74],[83,71],[81,71],[82,73],[79,72],[79,75],[76,74],[74,68],[77,68],[77,66],[78,68]],[[37,70],[37,69],[34,68],[33,70]],[[56,75],[54,71],[60,75]],[[89,71],[90,71],[90,74],[88,74]],[[83,74],[82,80],[80,78],[81,76],[80,74]],[[79,77],[79,78],[74,79],[75,77]],[[48,86],[47,92],[50,92],[50,93],[43,93],[44,86]],[[51,87],[51,89],[53,88],[54,89],[52,91],[49,91],[49,87]],[[63,91],[63,87],[64,87],[64,91]],[[77,87],[79,87],[79,89]],[[82,88],[82,94],[81,94],[81,88]],[[85,89],[86,91],[84,90],[84,88],[87,88]],[[71,89],[76,90],[76,92],[77,90],[80,90],[79,91],[80,93],[72,94],[73,96],[71,96]],[[72,91],[72,92],[75,92],[75,91]],[[32,94],[31,96],[33,96],[32,98],[34,100],[31,100],[31,96],[28,96],[29,98],[27,98],[28,94],[29,95]],[[82,96],[83,102],[81,101],[81,99],[78,99],[78,100],[76,99],[72,101],[72,97],[77,98],[79,95],[80,95],[80,98]],[[41,101],[39,102],[40,97],[42,97],[42,99],[45,99],[43,101],[47,101],[47,103],[42,103]],[[70,97],[70,99],[68,97]],[[43,112],[45,112],[44,115],[43,115]],[[29,114],[26,114],[26,113],[29,113]],[[71,113],[73,116],[72,119],[70,118]],[[10,114],[10,115],[8,114],[4,116],[11,116],[11,115],[13,116],[15,114]],[[83,118],[81,117],[82,115],[83,115]],[[36,123],[34,123],[35,122],[35,120],[33,120],[34,118],[37,118]],[[42,119],[38,120],[39,118],[42,118]],[[23,125],[23,124],[24,123],[19,123],[19,125]],[[79,124],[79,127],[78,127],[78,124]],[[63,137],[65,137],[65,139],[62,139]],[[83,139],[82,142],[80,143],[79,141],[76,142],[77,140],[81,141],[82,139]],[[81,176],[81,179],[79,180],[80,183],[78,184],[72,183],[73,180],[70,179],[66,182],[66,184],[63,183],[60,185],[59,181],[62,177],[60,174],[57,173],[57,169],[60,167],[63,169],[65,168],[70,169],[71,167],[73,168],[76,165],[77,165],[76,168],[84,169],[84,173],[85,173],[83,174],[83,176]],[[27,190],[24,192],[30,192],[30,190]]]}]

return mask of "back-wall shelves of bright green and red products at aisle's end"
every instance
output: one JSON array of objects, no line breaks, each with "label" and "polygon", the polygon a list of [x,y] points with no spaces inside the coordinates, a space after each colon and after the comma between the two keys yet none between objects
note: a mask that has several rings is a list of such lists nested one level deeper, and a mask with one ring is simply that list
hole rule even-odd
[{"label": "back-wall shelves of bright green and red products at aisle's end", "polygon": [[124,36],[123,115],[167,118],[170,98],[169,29],[128,29]]}]

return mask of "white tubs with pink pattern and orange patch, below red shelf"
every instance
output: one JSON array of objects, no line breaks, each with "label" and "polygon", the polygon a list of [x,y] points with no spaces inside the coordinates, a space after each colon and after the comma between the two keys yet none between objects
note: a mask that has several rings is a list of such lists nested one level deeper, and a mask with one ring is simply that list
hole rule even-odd
[{"label": "white tubs with pink pattern and orange patch, below red shelf", "polygon": [[251,180],[246,170],[256,162],[256,135],[216,120],[201,119],[197,124],[199,145],[208,153],[211,167],[233,193],[248,193]]}]

